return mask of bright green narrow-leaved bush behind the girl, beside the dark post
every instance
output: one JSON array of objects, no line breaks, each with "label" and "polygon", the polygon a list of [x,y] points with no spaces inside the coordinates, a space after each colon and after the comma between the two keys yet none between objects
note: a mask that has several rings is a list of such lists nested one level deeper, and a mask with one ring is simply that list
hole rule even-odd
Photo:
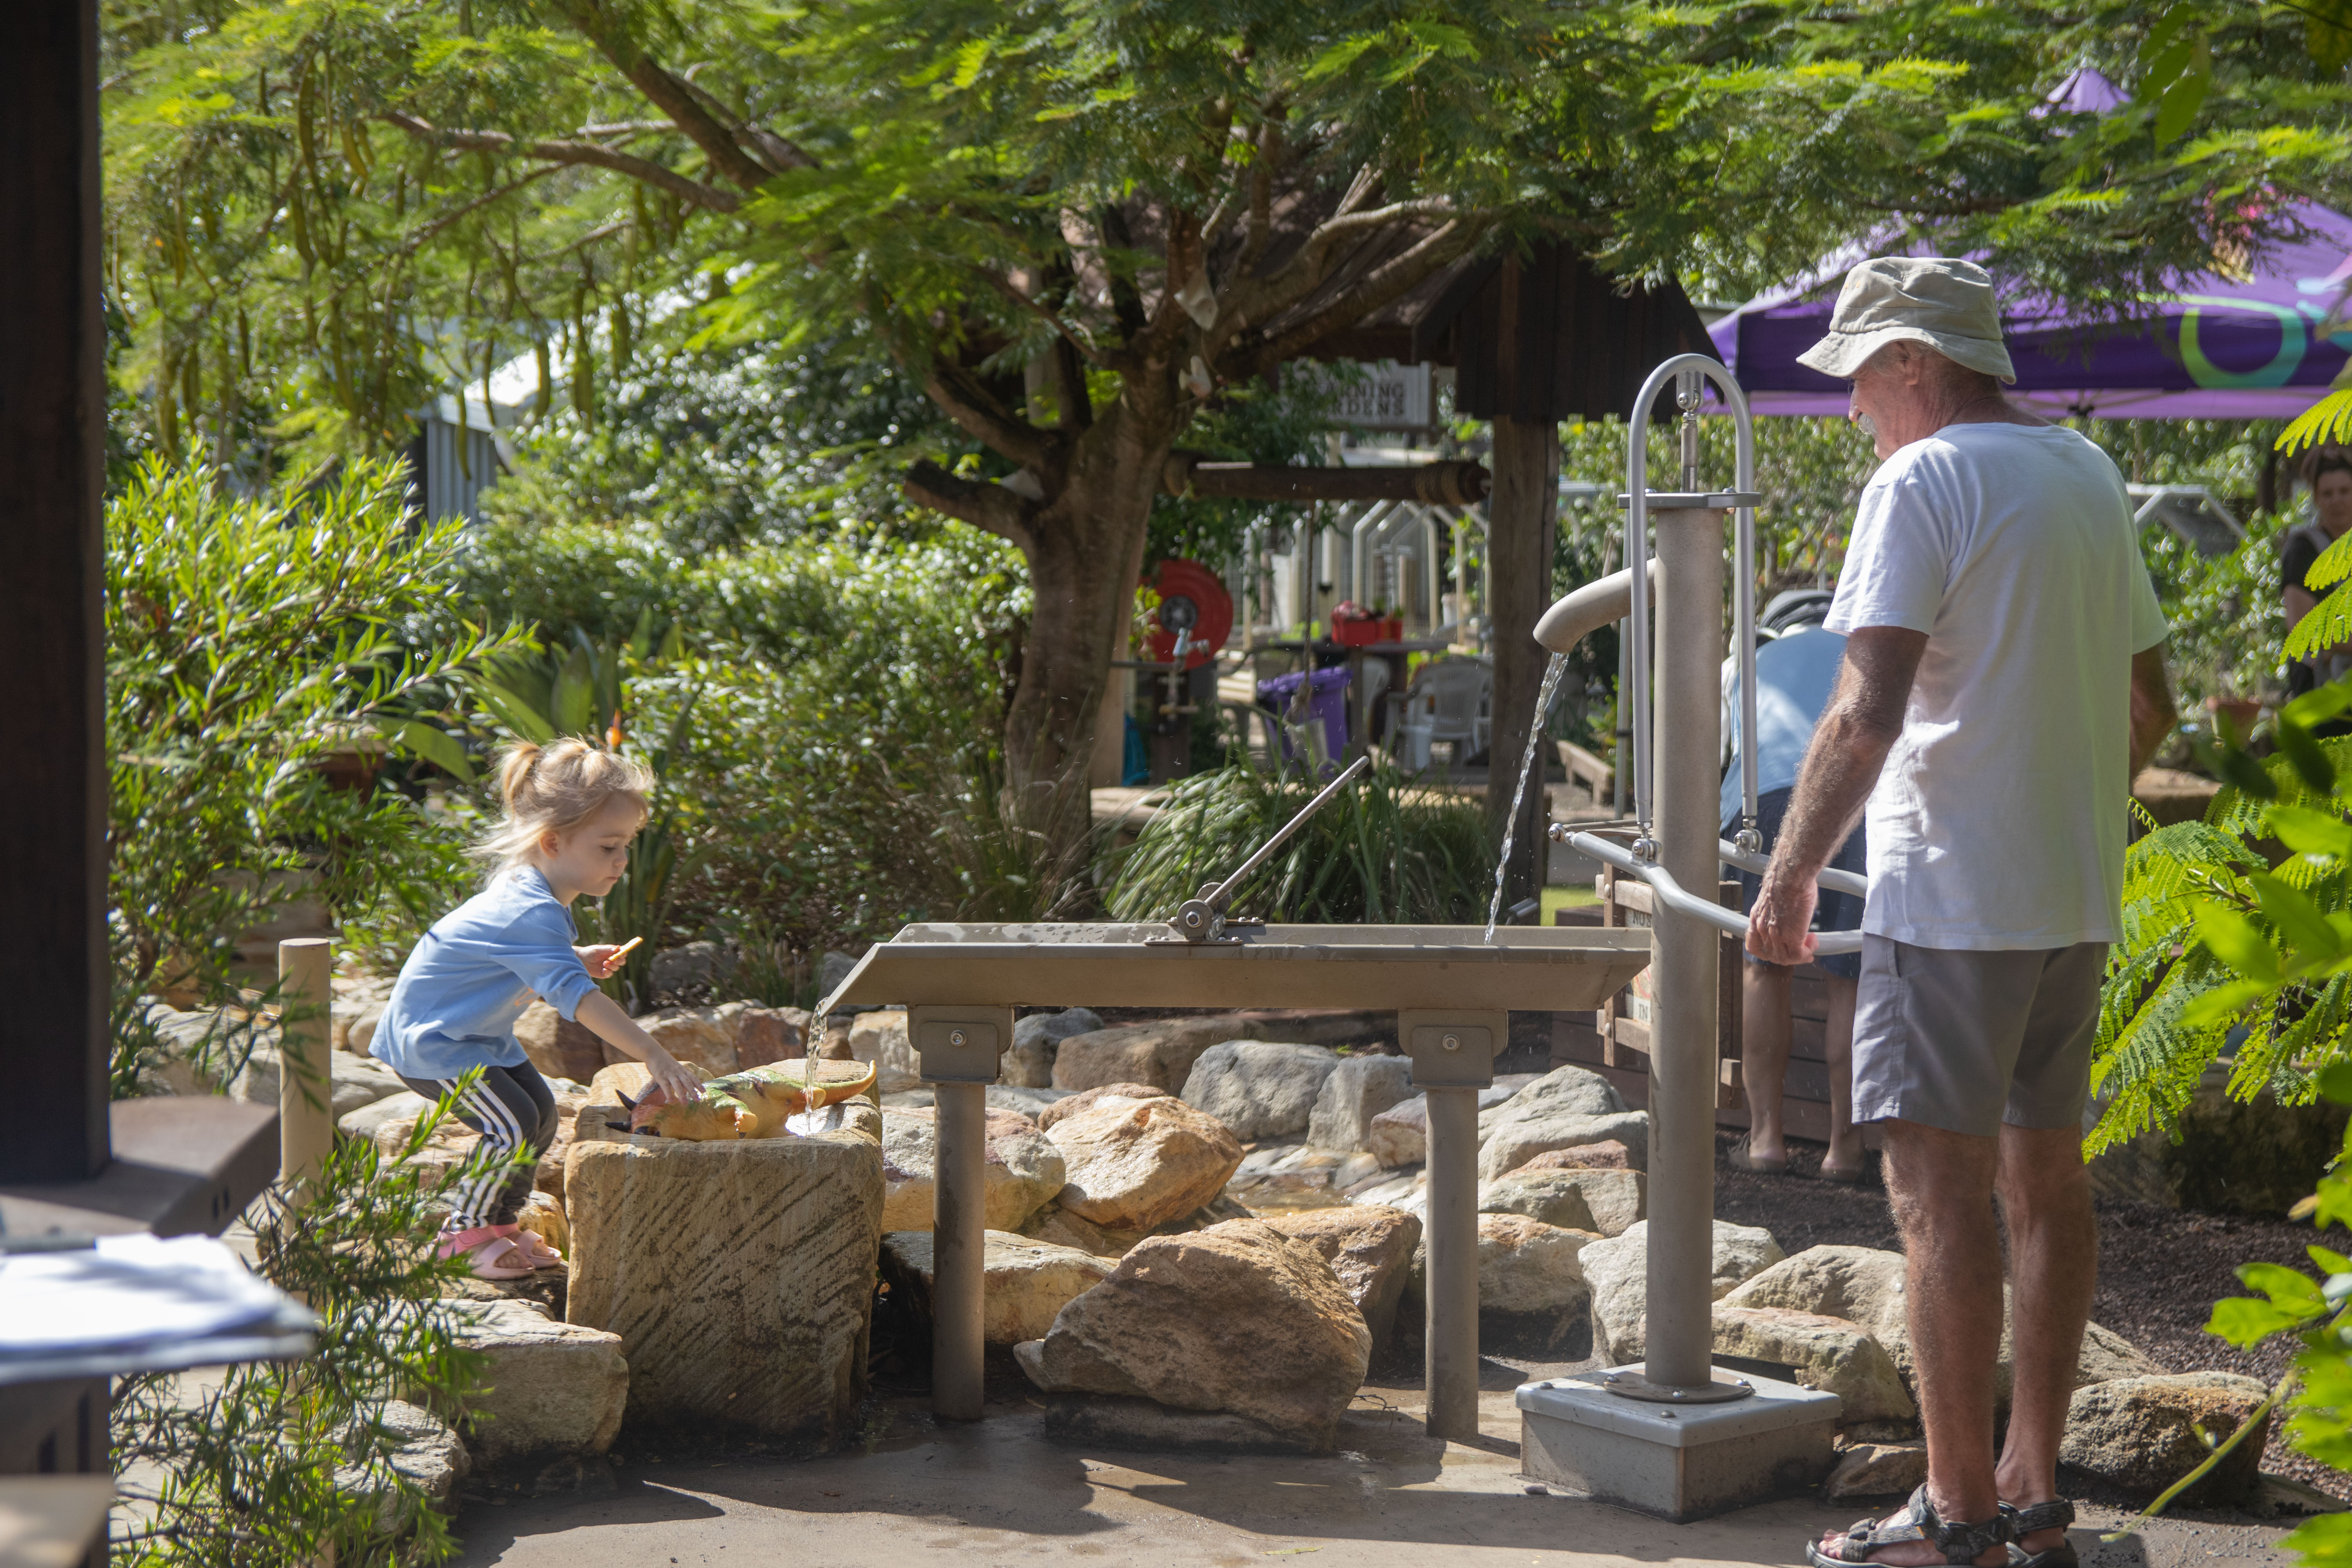
[{"label": "bright green narrow-leaved bush behind the girl, beside the dark post", "polygon": [[[456,527],[414,527],[407,473],[353,463],[313,491],[235,496],[146,458],[106,517],[108,931],[125,987],[223,994],[240,931],[289,898],[397,905],[435,827],[329,759],[381,755],[520,639],[445,621]],[[416,726],[430,729],[430,726]],[[440,733],[440,731],[433,731]],[[402,867],[383,879],[383,867]]]}]

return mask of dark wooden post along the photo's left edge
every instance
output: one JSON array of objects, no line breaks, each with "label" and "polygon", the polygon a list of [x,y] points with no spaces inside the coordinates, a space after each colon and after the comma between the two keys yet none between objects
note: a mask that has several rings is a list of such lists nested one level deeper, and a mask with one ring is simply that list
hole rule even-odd
[{"label": "dark wooden post along the photo's left edge", "polygon": [[[0,952],[38,983],[0,1023],[9,1135],[0,1180],[87,1180],[111,1159],[106,973],[106,322],[99,310],[99,7],[33,0],[0,49],[0,517],[9,595],[0,668]],[[101,1443],[103,1446],[103,1443]]]}]

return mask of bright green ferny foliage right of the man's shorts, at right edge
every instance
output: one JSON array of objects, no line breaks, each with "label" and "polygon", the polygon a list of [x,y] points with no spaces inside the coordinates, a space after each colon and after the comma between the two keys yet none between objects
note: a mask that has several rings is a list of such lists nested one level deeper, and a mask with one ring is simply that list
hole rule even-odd
[{"label": "bright green ferny foliage right of the man's shorts, at right edge", "polygon": [[[2201,745],[2227,788],[2201,823],[2176,823],[2124,856],[2124,940],[2107,959],[2091,1084],[2110,1095],[2084,1147],[2171,1126],[2204,1070],[2244,1027],[2227,1093],[2305,1103],[2314,1074],[2352,1056],[2352,741],[2310,729],[2352,705],[2352,682],[2305,693],[2272,719],[2277,755],[2232,736]],[[2288,853],[2277,865],[2265,842]]]}]

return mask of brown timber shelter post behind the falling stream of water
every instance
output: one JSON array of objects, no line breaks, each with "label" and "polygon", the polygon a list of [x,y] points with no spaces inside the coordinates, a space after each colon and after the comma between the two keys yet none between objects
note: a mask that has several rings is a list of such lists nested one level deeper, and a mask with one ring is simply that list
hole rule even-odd
[{"label": "brown timber shelter post behind the falling stream of water", "polygon": [[[1494,741],[1486,755],[1486,832],[1496,853],[1519,783],[1529,729],[1538,722],[1536,691],[1548,654],[1536,642],[1536,621],[1552,602],[1552,524],[1559,517],[1559,425],[1552,421],[1494,421],[1494,496],[1486,503],[1486,548],[1494,552],[1494,602],[1489,614],[1494,651]],[[1519,802],[1510,835],[1510,867],[1503,872],[1503,907],[1538,896],[1543,886],[1550,813],[1543,806],[1545,757]]]}]

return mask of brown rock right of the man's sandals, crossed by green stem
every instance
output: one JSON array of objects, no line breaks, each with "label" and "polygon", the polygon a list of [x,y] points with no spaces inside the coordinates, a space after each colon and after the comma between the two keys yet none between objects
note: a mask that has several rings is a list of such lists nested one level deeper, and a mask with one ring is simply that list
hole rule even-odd
[{"label": "brown rock right of the man's sandals, crossed by green stem", "polygon": [[[2204,1465],[2209,1441],[2237,1432],[2270,1394],[2253,1378],[2237,1373],[2169,1373],[2154,1378],[2117,1378],[2074,1389],[2067,1406],[2065,1439],[2058,1462],[2089,1472],[2150,1500],[2166,1486]],[[2187,1507],[2241,1502],[2260,1479],[2263,1432],[2230,1450],[2211,1476],[2180,1497]]]}]

